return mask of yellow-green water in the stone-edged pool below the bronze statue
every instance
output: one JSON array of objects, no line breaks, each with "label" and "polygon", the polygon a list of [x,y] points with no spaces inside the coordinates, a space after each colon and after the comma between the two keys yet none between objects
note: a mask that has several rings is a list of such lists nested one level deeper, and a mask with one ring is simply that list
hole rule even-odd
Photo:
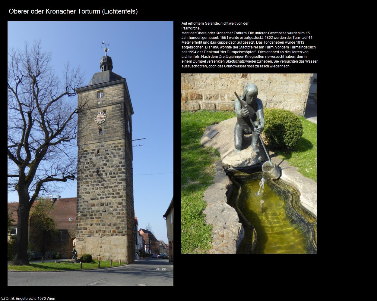
[{"label": "yellow-green water in the stone-edged pool below the bronze statue", "polygon": [[[293,210],[293,200],[296,198],[297,201],[298,193],[291,187],[288,190],[286,186],[276,185],[276,182],[265,178],[264,189],[261,189],[260,195],[257,196],[262,175],[259,172],[232,179],[240,185],[240,189],[235,189],[232,196],[236,199],[236,209],[243,215],[240,219],[250,222],[257,233],[257,253],[305,254],[314,252],[311,246],[313,244],[316,252],[313,227],[308,231],[308,225],[310,227],[314,220],[305,219]],[[264,201],[262,206],[261,200]],[[245,221],[242,224],[244,225]],[[253,240],[250,230],[252,227],[244,225],[246,234],[239,248],[240,252],[250,251]]]}]

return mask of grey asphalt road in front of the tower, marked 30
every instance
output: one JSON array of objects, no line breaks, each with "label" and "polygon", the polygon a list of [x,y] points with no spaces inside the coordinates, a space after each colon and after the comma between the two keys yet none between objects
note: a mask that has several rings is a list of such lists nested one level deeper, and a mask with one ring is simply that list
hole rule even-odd
[{"label": "grey asphalt road in front of the tower, marked 30", "polygon": [[8,272],[8,286],[173,286],[173,263],[147,258],[92,271]]}]

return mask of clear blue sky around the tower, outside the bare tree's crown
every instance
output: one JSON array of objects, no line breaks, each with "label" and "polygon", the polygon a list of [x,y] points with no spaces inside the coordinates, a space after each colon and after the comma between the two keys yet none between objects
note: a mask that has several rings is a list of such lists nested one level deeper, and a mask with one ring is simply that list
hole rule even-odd
[{"label": "clear blue sky around the tower, outside the bare tree's crown", "polygon": [[[173,22],[8,22],[8,50],[38,39],[58,76],[69,61],[80,65],[85,85],[101,71],[101,42],[110,43],[112,71],[126,78],[130,92],[132,137],[146,138],[133,141],[144,144],[133,147],[135,215],[139,228],[150,223],[156,238],[168,243],[162,215],[173,196]],[[143,175],[152,173],[160,174]],[[76,188],[71,182],[61,197],[75,197]],[[17,193],[8,193],[8,202],[18,202]]]}]

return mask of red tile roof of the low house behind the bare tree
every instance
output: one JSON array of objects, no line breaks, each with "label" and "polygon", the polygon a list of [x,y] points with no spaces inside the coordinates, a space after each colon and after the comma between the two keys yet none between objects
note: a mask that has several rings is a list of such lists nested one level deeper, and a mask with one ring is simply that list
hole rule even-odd
[{"label": "red tile roof of the low house behind the bare tree", "polygon": [[[32,207],[35,207],[38,201],[34,202]],[[12,225],[17,225],[17,208],[18,203],[8,203],[8,212],[15,222]],[[61,229],[76,229],[76,198],[63,198],[55,201],[54,210],[50,211],[50,216],[54,219],[56,228]],[[30,217],[30,216],[29,216]],[[72,220],[68,220],[72,217]]]}]

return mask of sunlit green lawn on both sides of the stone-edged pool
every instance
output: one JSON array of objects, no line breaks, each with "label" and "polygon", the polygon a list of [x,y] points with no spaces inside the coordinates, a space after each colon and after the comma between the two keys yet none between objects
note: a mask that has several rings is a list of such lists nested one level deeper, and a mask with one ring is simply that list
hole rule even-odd
[{"label": "sunlit green lawn on both sides of the stone-edged pool", "polygon": [[[202,197],[212,184],[213,163],[220,155],[213,148],[202,147],[200,138],[206,126],[235,116],[234,111],[181,112],[181,253],[206,253],[211,247],[211,226],[204,223]],[[276,151],[276,155],[317,181],[317,125],[299,118],[304,130],[299,143],[291,151]]]}]

